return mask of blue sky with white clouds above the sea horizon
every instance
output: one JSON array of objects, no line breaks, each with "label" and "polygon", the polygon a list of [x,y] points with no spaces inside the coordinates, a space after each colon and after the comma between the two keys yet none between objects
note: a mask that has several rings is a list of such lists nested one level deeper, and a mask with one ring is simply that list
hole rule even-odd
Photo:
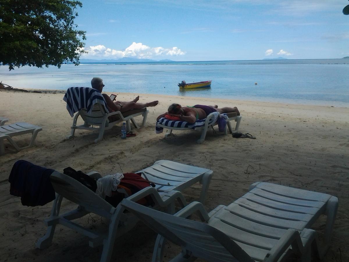
[{"label": "blue sky with white clouds above the sea horizon", "polygon": [[346,0],[80,0],[88,59],[349,56]]}]

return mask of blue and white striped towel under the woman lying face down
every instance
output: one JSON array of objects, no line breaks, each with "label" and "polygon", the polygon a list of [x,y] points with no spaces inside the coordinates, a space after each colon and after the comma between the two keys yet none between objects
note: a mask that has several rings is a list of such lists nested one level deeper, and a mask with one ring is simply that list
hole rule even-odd
[{"label": "blue and white striped towel under the woman lying face down", "polygon": [[[220,116],[219,112],[213,112],[210,115],[214,115],[213,118],[210,119],[210,121],[208,122],[208,125],[215,123],[218,119],[218,117]],[[226,114],[222,114],[221,115],[224,119],[228,119],[228,116]],[[156,125],[155,125],[155,133],[160,134],[163,132],[163,128],[161,126],[158,126],[158,124],[161,125],[165,125],[171,128],[191,128],[193,130],[201,128],[203,126],[205,126],[205,119],[198,119],[196,120],[195,123],[190,124],[188,122],[185,121],[172,121],[169,119],[166,119],[164,117],[160,118],[158,121],[156,121]]]}]

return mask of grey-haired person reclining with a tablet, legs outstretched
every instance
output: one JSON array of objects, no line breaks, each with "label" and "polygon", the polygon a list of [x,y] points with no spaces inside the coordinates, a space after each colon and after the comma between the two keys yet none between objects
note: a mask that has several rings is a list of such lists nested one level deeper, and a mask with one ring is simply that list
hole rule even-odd
[{"label": "grey-haired person reclining with a tablet, legs outstretched", "polygon": [[[94,89],[97,89],[99,92],[102,93],[104,84],[103,84],[103,80],[102,78],[99,77],[94,77],[91,80],[91,86]],[[155,107],[159,101],[153,101],[153,102],[149,102],[149,103],[137,103],[139,100],[139,96],[137,96],[134,100],[130,101],[130,102],[121,102],[121,101],[116,101],[113,102],[110,97],[107,94],[102,94],[105,102],[107,103],[107,107],[109,112],[115,112],[115,111],[120,111],[122,112],[126,112],[128,110],[131,109],[141,109],[144,107]]]}]

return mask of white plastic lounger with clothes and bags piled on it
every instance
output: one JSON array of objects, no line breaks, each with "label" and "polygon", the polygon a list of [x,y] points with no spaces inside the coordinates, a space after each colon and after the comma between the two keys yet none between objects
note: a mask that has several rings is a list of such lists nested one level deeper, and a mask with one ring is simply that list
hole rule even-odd
[{"label": "white plastic lounger with clothes and bags piled on it", "polygon": [[[155,202],[152,208],[165,209],[169,213],[174,213],[174,202],[176,200],[182,207],[186,205],[186,201],[179,191],[190,187],[196,182],[202,183],[200,199],[203,200],[213,174],[209,169],[184,165],[168,160],[156,161],[153,166],[145,168],[140,172],[143,172],[148,180],[154,182],[156,187],[144,188],[127,199],[138,201],[144,196],[151,195]],[[89,175],[97,179],[101,177],[97,172],[91,172]],[[53,172],[51,174],[51,183],[57,193],[56,199],[52,206],[51,216],[45,220],[45,224],[48,227],[47,232],[42,238],[38,239],[35,246],[37,248],[50,246],[55,226],[61,224],[88,236],[91,247],[103,245],[101,261],[110,261],[115,239],[131,230],[138,219],[130,213],[125,214],[124,208],[120,205],[114,208],[80,182],[65,174]],[[73,211],[59,214],[63,197],[79,206]],[[83,217],[90,212],[110,220],[106,232],[92,232],[70,221]]]}]

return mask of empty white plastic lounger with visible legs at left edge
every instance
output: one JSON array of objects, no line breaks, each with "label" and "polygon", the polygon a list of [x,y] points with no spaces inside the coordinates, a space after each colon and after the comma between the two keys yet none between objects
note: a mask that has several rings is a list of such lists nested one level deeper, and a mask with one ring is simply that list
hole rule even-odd
[{"label": "empty white plastic lounger with visible legs at left edge", "polygon": [[[24,148],[32,147],[34,145],[35,138],[38,132],[41,130],[42,128],[40,126],[28,124],[25,122],[0,126],[0,155],[5,154],[5,139],[7,139],[17,151],[21,151]],[[21,134],[27,133],[32,134],[28,146],[19,147],[12,139],[12,137],[14,136],[19,136]]]}]

